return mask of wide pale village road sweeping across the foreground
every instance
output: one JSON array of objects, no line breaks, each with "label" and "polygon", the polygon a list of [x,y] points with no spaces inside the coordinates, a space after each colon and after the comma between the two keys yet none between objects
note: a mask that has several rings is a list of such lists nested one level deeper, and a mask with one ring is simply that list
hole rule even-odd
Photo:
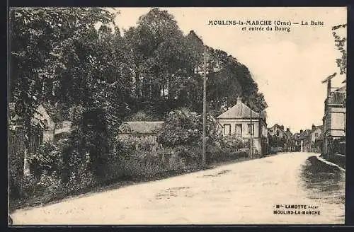
[{"label": "wide pale village road sweeping across the foreground", "polygon": [[[13,225],[343,224],[345,173],[310,156],[318,154],[280,153],[21,209]],[[277,204],[311,205],[320,214],[277,215]]]}]

